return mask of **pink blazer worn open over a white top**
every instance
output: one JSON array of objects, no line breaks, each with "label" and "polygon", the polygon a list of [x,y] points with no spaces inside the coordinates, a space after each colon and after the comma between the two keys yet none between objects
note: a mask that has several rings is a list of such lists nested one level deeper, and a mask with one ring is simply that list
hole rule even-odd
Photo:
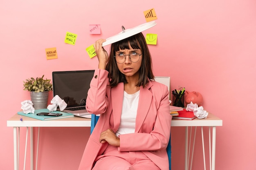
[{"label": "pink blazer worn open over a white top", "polygon": [[[124,96],[124,83],[117,87],[107,86],[108,72],[97,69],[90,83],[86,107],[92,114],[101,114],[93,133],[86,144],[79,170],[91,170],[95,159],[102,155],[108,143],[101,144],[99,136],[102,131],[117,131],[120,125]],[[169,108],[168,88],[166,85],[149,81],[140,87],[139,105],[135,123],[135,133],[119,135],[118,150],[141,150],[161,170],[168,170],[168,145],[171,131],[171,115]]]}]

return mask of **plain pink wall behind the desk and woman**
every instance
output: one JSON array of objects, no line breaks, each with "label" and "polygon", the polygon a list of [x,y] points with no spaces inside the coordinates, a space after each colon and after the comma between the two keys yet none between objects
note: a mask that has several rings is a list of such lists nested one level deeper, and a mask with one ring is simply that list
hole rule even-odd
[{"label": "plain pink wall behind the desk and woman", "polygon": [[[255,0],[2,0],[1,169],[13,169],[13,129],[6,121],[30,99],[22,81],[43,74],[52,78],[52,71],[97,68],[97,58],[90,59],[85,48],[119,33],[121,25],[145,23],[143,11],[150,8],[157,25],[144,35],[158,35],[157,45],[149,46],[155,75],[170,76],[171,90],[180,85],[200,92],[204,109],[223,120],[217,127],[216,170],[255,169]],[[90,35],[89,24],[101,24],[101,35]],[[64,43],[67,31],[78,35],[75,46]],[[58,59],[46,60],[45,48],[52,47]],[[25,128],[20,131],[23,168]],[[197,134],[193,169],[202,170],[200,128]],[[88,136],[88,127],[41,128],[38,169],[76,170]],[[173,170],[184,169],[183,127],[172,128],[172,153]],[[26,163],[29,169],[29,159]]]}]

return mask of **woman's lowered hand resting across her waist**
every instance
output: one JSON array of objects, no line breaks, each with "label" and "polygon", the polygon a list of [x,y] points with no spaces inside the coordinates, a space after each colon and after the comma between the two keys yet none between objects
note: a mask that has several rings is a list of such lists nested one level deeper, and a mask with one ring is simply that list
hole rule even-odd
[{"label": "woman's lowered hand resting across her waist", "polygon": [[102,144],[108,142],[108,144],[112,146],[120,146],[120,139],[115,135],[112,129],[108,129],[106,131],[101,132],[99,142],[101,142]]}]

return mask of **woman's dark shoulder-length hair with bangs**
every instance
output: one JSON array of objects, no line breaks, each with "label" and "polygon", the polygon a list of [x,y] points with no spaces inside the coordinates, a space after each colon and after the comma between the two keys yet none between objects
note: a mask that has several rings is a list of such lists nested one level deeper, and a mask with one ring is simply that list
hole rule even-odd
[{"label": "woman's dark shoulder-length hair with bangs", "polygon": [[148,78],[154,80],[152,71],[152,59],[146,44],[145,37],[142,33],[138,33],[111,44],[108,63],[106,65],[106,70],[109,72],[108,78],[111,87],[115,87],[118,83],[121,82],[127,83],[125,75],[118,70],[117,62],[114,56],[115,52],[119,50],[129,49],[129,44],[133,49],[140,49],[142,51],[142,61],[141,68],[139,69],[139,80],[137,86],[139,87],[142,85],[144,87],[148,81]]}]

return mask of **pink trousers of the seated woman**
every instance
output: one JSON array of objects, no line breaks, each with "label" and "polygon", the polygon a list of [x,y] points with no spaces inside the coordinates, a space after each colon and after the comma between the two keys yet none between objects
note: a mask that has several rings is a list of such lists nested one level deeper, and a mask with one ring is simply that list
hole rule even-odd
[{"label": "pink trousers of the seated woman", "polygon": [[119,152],[111,145],[96,161],[92,170],[160,170],[141,151]]}]

